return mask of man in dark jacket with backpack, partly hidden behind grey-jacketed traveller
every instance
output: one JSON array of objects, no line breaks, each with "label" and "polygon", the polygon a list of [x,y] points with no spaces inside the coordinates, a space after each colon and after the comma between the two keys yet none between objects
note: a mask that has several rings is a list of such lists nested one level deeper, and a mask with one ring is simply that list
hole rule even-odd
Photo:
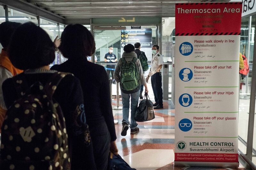
[{"label": "man in dark jacket with backpack, partly hidden behind grey-jacketed traveller", "polygon": [[[135,47],[134,52],[137,54],[137,58],[140,60],[140,64],[144,74],[144,72],[148,70],[148,58],[146,57],[146,54],[144,51],[140,51],[139,42],[136,42],[134,44],[134,47]],[[142,92],[143,92],[143,85],[140,86],[140,99],[143,99]]]}]

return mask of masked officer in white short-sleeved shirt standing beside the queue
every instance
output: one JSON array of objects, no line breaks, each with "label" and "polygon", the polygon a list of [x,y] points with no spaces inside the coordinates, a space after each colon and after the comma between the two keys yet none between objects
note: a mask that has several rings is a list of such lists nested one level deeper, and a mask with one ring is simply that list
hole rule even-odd
[{"label": "masked officer in white short-sleeved shirt standing beside the queue", "polygon": [[153,93],[155,96],[154,109],[162,109],[163,107],[163,89],[162,89],[162,74],[161,69],[163,66],[163,56],[159,54],[159,46],[152,46],[152,61],[151,61],[151,69],[148,73],[148,77],[146,78],[146,82],[148,83],[148,79],[151,76],[151,85],[153,89]]}]

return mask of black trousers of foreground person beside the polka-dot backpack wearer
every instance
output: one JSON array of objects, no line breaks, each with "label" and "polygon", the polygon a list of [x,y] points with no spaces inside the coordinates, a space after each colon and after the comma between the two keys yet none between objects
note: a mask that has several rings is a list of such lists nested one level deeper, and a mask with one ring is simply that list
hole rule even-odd
[{"label": "black trousers of foreground person beside the polka-dot backpack wearer", "polygon": [[106,170],[110,149],[110,134],[106,122],[89,126],[92,138],[93,155],[97,170]]}]

